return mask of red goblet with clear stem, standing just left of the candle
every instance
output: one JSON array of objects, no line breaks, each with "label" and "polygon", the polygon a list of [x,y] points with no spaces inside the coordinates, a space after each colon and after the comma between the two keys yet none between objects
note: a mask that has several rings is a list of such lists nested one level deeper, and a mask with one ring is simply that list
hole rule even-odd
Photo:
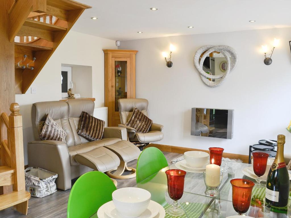
[{"label": "red goblet with clear stem, standing just left of the candle", "polygon": [[166,212],[172,216],[181,216],[184,214],[184,210],[179,207],[178,200],[182,198],[184,192],[184,179],[186,172],[180,169],[169,169],[166,171],[166,175],[169,196],[174,200],[173,207],[166,210]]}]

